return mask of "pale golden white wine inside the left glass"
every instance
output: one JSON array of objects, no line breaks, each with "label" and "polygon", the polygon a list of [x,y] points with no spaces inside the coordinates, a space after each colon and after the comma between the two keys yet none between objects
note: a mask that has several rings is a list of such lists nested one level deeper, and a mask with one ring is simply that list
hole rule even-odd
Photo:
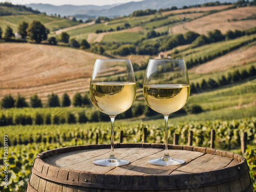
[{"label": "pale golden white wine inside the left glass", "polygon": [[136,97],[135,82],[96,82],[90,85],[94,106],[108,115],[117,115],[131,108]]}]

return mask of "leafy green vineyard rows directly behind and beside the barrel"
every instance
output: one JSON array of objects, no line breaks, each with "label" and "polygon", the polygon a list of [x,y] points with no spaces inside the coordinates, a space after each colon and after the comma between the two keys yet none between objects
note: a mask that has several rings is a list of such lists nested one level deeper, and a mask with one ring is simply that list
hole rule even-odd
[{"label": "leafy green vineyard rows directly behind and beside the barrel", "polygon": [[[123,131],[123,142],[143,142],[143,128],[147,128],[147,142],[164,143],[164,122],[156,121],[120,121],[115,123],[115,141],[118,142],[120,131]],[[179,134],[179,144],[186,145],[188,132],[193,131],[193,145],[210,146],[210,130],[216,131],[215,148],[240,153],[241,134],[248,135],[248,149],[243,154],[251,169],[251,178],[256,176],[256,161],[253,146],[256,141],[256,118],[230,121],[191,121],[189,123],[169,124],[169,143],[173,143],[173,134]],[[11,131],[10,131],[11,129]],[[62,125],[15,125],[0,128],[8,133],[10,157],[10,187],[15,191],[24,191],[29,178],[30,168],[35,156],[43,151],[62,146],[99,144],[110,142],[109,122]],[[29,133],[29,134],[28,134]],[[1,154],[4,154],[3,138],[1,138]],[[4,158],[1,157],[1,173],[3,173]],[[2,175],[3,176],[3,175]],[[256,181],[253,180],[254,185]],[[254,186],[255,187],[255,186]],[[0,186],[3,189],[3,186]],[[6,190],[8,191],[8,190]]]}]

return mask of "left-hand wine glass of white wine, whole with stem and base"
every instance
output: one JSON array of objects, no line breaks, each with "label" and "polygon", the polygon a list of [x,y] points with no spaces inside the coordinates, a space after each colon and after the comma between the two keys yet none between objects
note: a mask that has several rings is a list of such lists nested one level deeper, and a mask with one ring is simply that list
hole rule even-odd
[{"label": "left-hand wine glass of white wine, whole with stem and base", "polygon": [[131,108],[136,98],[136,83],[130,59],[97,59],[93,68],[90,96],[93,105],[111,119],[111,153],[109,158],[95,160],[101,166],[122,166],[129,161],[114,154],[115,117]]}]

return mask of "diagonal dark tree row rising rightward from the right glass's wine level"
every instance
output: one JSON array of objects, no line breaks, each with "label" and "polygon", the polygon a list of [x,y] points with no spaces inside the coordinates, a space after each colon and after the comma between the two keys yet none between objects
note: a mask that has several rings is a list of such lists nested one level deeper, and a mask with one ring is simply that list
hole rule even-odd
[{"label": "diagonal dark tree row rising rightward from the right glass's wine level", "polygon": [[222,86],[226,86],[227,84],[231,84],[234,82],[238,82],[240,80],[247,79],[249,77],[256,76],[256,69],[254,66],[251,66],[248,71],[243,70],[240,72],[239,70],[233,71],[233,73],[228,73],[227,76],[222,75],[217,81],[209,78],[208,81],[203,79],[201,83],[191,83],[190,84],[190,93],[201,93],[205,91],[209,91],[211,89],[216,89]]}]

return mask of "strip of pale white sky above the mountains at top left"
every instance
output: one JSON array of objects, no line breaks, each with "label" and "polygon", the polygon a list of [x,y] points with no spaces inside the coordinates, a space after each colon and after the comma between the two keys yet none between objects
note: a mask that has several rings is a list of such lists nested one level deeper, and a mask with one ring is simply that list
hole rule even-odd
[{"label": "strip of pale white sky above the mountains at top left", "polygon": [[[1,1],[1,0],[0,0]],[[10,2],[12,4],[52,4],[52,5],[113,5],[113,4],[123,4],[128,2],[140,2],[142,0],[6,0],[2,2]]]}]

